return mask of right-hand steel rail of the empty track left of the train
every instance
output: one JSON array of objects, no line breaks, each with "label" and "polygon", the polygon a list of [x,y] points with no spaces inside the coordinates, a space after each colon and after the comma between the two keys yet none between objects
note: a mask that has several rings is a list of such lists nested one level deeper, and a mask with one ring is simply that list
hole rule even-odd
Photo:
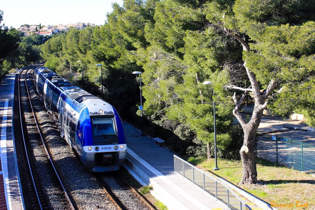
[{"label": "right-hand steel rail of the empty track left of the train", "polygon": [[75,208],[74,208],[74,206],[73,206],[73,204],[72,204],[72,201],[71,201],[70,197],[68,196],[68,193],[66,192],[65,187],[63,186],[63,184],[62,184],[62,182],[61,182],[61,179],[60,179],[60,177],[59,177],[59,175],[58,175],[58,172],[57,172],[56,168],[54,167],[54,163],[53,163],[53,161],[52,161],[52,159],[51,159],[51,157],[50,157],[50,155],[49,155],[49,152],[48,152],[48,150],[47,150],[47,146],[46,146],[46,144],[45,144],[45,142],[44,142],[44,139],[43,139],[43,136],[42,136],[42,132],[40,131],[39,126],[38,126],[37,118],[36,118],[35,112],[34,112],[34,110],[33,110],[33,105],[32,105],[32,102],[31,102],[31,97],[30,97],[30,94],[29,94],[29,91],[28,91],[28,88],[27,88],[27,83],[26,83],[26,74],[27,74],[27,72],[28,72],[29,70],[30,70],[30,69],[28,69],[28,70],[26,71],[26,73],[25,73],[25,85],[26,85],[26,90],[27,90],[28,98],[29,98],[29,100],[30,100],[30,104],[31,104],[31,109],[32,109],[32,112],[33,112],[33,116],[34,116],[34,119],[35,119],[36,127],[37,127],[38,132],[39,132],[39,135],[40,135],[40,137],[41,137],[41,139],[42,139],[42,142],[43,142],[44,149],[45,149],[45,151],[46,151],[47,157],[48,157],[48,159],[49,159],[49,161],[50,161],[50,163],[51,163],[52,168],[54,169],[54,173],[55,173],[55,175],[56,175],[56,177],[57,177],[57,179],[58,179],[58,181],[59,181],[59,184],[60,184],[62,190],[63,190],[64,193],[65,193],[65,196],[66,196],[66,199],[67,199],[67,201],[68,201],[68,203],[69,203],[69,206],[70,206],[71,209],[74,210]]}]

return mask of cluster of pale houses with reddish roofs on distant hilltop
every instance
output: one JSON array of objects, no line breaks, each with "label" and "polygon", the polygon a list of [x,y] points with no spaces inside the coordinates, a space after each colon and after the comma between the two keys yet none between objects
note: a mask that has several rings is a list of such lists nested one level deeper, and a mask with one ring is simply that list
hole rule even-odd
[{"label": "cluster of pale houses with reddish roofs on distant hilltop", "polygon": [[[36,34],[40,34],[40,35],[44,35],[44,36],[48,36],[48,35],[52,35],[54,33],[59,33],[59,32],[67,32],[70,28],[76,28],[76,29],[83,29],[87,26],[95,26],[95,24],[93,23],[76,23],[76,24],[67,24],[67,25],[56,25],[56,26],[44,26],[43,28],[39,29],[39,26],[33,25],[33,26],[21,26],[18,31],[22,31],[25,33],[25,36],[30,36],[32,32],[35,32]],[[36,31],[36,27],[37,27],[37,31]],[[45,32],[45,33],[43,33]],[[47,32],[47,33],[46,33]]]}]

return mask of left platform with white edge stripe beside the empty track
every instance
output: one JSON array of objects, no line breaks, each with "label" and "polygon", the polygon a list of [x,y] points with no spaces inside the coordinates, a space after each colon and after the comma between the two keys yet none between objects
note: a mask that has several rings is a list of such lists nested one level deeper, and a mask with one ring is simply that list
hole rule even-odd
[{"label": "left platform with white edge stripe beside the empty track", "polygon": [[15,74],[7,74],[0,83],[0,209],[24,209],[20,177],[14,149],[13,97]]}]

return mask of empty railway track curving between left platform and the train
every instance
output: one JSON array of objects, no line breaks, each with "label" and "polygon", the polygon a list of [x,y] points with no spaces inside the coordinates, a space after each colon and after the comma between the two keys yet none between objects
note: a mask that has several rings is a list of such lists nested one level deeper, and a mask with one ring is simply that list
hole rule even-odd
[{"label": "empty railway track curving between left platform and the train", "polygon": [[[31,197],[28,201],[31,202],[31,205],[29,205],[28,207],[31,209],[54,208],[51,204],[51,200],[54,200],[54,202],[59,202],[59,205],[61,205],[63,209],[75,209],[54,167],[51,157],[49,156],[49,152],[39,130],[37,119],[32,108],[31,99],[26,83],[26,73],[30,69],[37,66],[38,65],[32,65],[26,67],[23,71],[20,72],[18,78],[20,87],[19,109],[22,128],[21,132],[24,148],[26,151],[25,157],[23,159],[26,162],[25,166],[29,167],[28,170],[23,170],[24,173],[26,173],[24,174],[24,176],[27,177],[27,181],[29,183],[28,195],[29,197]],[[25,83],[21,82],[21,80],[23,79],[25,80]],[[24,98],[27,97],[29,100],[21,100],[23,97],[22,93],[27,93],[27,96],[24,94]],[[30,116],[30,114],[32,115]],[[30,133],[28,133],[29,131],[32,132],[31,135]],[[33,148],[32,144],[37,145],[38,148],[36,148],[36,150],[39,150],[41,152],[40,157],[33,153],[35,149]],[[36,163],[38,161],[37,159],[39,158],[40,161],[43,162],[41,166],[45,167],[45,174],[42,173],[43,168],[39,168],[41,166]],[[50,177],[51,182],[53,183],[54,195],[58,198],[54,197],[53,199],[51,199],[51,197],[49,197],[45,193],[47,192],[47,189],[45,189],[43,186],[43,179],[47,179],[47,177],[43,176],[47,175]]]}]

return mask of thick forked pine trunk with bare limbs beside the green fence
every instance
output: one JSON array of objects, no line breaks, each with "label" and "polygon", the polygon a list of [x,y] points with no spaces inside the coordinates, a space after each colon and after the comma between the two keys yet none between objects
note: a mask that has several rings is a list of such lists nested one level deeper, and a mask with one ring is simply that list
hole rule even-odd
[{"label": "thick forked pine trunk with bare limbs beside the green fence", "polygon": [[[225,15],[223,15],[224,18]],[[245,34],[235,33],[227,28],[224,28],[226,34],[236,38],[239,43],[242,44],[243,51],[249,52],[248,38]],[[276,87],[276,80],[271,79],[266,89],[263,92],[260,91],[259,82],[256,79],[256,75],[246,66],[246,58],[244,59],[243,66],[246,69],[247,76],[250,81],[249,89],[244,88],[244,93],[240,99],[236,97],[236,92],[234,92],[233,100],[235,103],[235,109],[233,110],[233,115],[238,119],[238,122],[242,125],[244,131],[244,142],[240,150],[242,164],[243,164],[243,175],[239,184],[253,184],[257,183],[257,169],[255,162],[255,135],[257,128],[261,122],[261,116],[263,110],[267,106],[268,96],[272,93]],[[246,85],[246,83],[245,83]],[[233,87],[232,87],[233,88]],[[234,88],[239,89],[239,88]],[[243,116],[240,114],[240,105],[243,102],[245,96],[251,91],[255,100],[254,111],[250,121],[247,123]]]}]

